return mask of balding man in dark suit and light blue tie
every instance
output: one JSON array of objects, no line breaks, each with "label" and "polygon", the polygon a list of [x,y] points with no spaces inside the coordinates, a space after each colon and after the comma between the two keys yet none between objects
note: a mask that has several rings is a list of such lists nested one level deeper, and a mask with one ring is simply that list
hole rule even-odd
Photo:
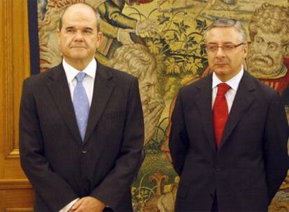
[{"label": "balding man in dark suit and light blue tie", "polygon": [[138,81],[94,59],[99,15],[66,8],[59,23],[64,59],[24,81],[20,159],[36,211],[132,211],[144,125]]}]

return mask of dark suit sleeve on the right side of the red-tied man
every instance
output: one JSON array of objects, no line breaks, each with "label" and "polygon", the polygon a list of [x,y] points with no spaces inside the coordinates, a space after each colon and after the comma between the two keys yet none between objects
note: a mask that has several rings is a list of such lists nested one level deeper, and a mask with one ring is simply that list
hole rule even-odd
[{"label": "dark suit sleeve on the right side of the red-tied man", "polygon": [[288,121],[278,93],[269,105],[265,129],[264,160],[269,202],[278,191],[288,170]]}]

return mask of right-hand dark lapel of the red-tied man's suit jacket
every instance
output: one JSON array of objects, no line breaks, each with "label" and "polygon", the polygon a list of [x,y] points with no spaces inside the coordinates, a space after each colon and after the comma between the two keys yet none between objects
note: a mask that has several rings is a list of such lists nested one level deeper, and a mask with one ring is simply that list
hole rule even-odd
[{"label": "right-hand dark lapel of the red-tied man's suit jacket", "polygon": [[244,75],[239,83],[239,88],[228,116],[228,121],[225,125],[220,148],[228,140],[228,137],[237,126],[239,120],[242,118],[242,116],[244,116],[247,109],[249,109],[250,105],[253,103],[255,97],[252,93],[254,91],[255,84],[253,83],[250,75],[244,71]]}]

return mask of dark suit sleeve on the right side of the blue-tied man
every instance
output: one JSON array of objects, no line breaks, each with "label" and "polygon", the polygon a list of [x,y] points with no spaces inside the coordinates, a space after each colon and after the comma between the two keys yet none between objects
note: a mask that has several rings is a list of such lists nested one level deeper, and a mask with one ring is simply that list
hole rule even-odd
[{"label": "dark suit sleeve on the right side of the blue-tied man", "polygon": [[121,203],[122,195],[130,192],[131,183],[141,163],[144,143],[144,118],[137,79],[134,79],[131,83],[127,104],[126,123],[119,157],[114,168],[102,183],[91,192],[92,197],[100,199],[112,209]]}]

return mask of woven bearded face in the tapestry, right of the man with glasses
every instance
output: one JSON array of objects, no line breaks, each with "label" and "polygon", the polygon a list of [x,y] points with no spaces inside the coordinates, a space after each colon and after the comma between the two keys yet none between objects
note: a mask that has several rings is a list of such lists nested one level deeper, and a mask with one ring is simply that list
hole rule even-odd
[{"label": "woven bearded face in the tapestry, right of the man with glasses", "polygon": [[274,75],[283,66],[283,45],[281,33],[265,33],[258,29],[250,45],[247,59],[251,73]]}]

